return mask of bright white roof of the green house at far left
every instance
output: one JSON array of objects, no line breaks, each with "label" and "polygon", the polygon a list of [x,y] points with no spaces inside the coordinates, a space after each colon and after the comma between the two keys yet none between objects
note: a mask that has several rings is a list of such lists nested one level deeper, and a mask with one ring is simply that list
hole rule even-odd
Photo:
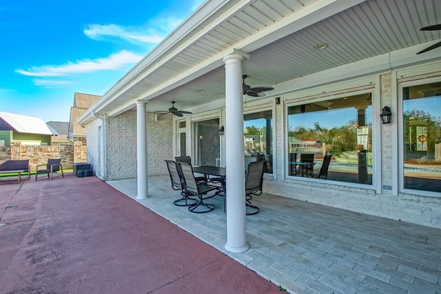
[{"label": "bright white roof of the green house at far left", "polygon": [[40,118],[0,112],[0,120],[1,130],[14,130],[28,134],[58,135],[52,127],[46,125]]}]

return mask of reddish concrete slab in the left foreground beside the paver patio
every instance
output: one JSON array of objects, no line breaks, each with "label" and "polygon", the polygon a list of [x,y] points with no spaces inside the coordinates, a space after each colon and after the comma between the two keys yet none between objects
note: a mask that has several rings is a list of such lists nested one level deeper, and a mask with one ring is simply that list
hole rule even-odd
[{"label": "reddish concrete slab in the left foreground beside the paver patio", "polygon": [[2,293],[280,293],[98,178],[12,185],[17,207],[1,207]]}]

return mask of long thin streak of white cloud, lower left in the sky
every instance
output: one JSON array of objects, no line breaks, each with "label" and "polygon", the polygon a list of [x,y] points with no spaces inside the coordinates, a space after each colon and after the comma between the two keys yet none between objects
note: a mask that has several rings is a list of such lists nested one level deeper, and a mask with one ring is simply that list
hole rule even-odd
[{"label": "long thin streak of white cloud, lower left in the sky", "polygon": [[84,74],[101,70],[119,70],[124,65],[133,64],[141,60],[143,56],[122,50],[107,58],[94,60],[81,60],[69,62],[63,65],[33,66],[26,70],[16,70],[25,76],[68,76],[69,74]]}]

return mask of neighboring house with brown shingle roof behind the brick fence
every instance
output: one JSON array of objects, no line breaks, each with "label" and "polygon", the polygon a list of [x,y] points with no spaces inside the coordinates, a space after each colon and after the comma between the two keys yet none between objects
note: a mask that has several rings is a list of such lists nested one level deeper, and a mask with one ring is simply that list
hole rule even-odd
[{"label": "neighboring house with brown shingle roof behind the brick fence", "polygon": [[86,143],[86,129],[84,124],[76,123],[76,120],[101,96],[74,93],[74,104],[70,107],[68,139]]}]

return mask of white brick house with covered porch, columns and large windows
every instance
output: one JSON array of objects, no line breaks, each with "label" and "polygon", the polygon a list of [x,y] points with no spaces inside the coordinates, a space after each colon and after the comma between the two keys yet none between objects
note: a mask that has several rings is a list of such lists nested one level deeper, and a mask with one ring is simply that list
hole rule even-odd
[{"label": "white brick house with covered porch, columns and large windows", "polygon": [[[165,159],[215,165],[220,156],[225,248],[243,252],[243,125],[261,118],[265,155],[274,160],[265,192],[441,229],[441,48],[417,54],[441,39],[440,30],[420,30],[441,23],[439,7],[439,0],[205,1],[79,118],[88,125],[88,160],[105,180],[136,177],[143,199],[147,176],[167,174]],[[247,95],[261,85],[274,90]],[[172,101],[192,113],[157,119]],[[391,123],[383,124],[387,107]],[[220,127],[225,134],[215,140]],[[326,179],[290,174],[290,149],[301,143],[290,136],[302,129],[346,163],[332,162]],[[207,138],[217,152],[201,148]]]}]

